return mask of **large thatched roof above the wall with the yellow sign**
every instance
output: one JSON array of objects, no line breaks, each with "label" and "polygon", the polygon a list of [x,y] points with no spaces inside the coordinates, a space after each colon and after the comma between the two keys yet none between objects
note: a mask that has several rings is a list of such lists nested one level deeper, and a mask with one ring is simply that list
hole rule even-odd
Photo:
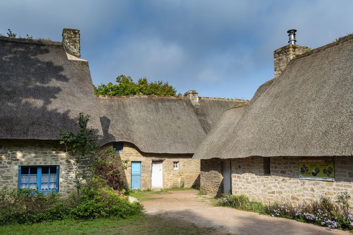
[{"label": "large thatched roof above the wall with the yellow sign", "polygon": [[194,157],[211,158],[210,149],[220,158],[352,156],[352,104],[349,35],[290,61],[259,87],[240,120],[226,111]]}]

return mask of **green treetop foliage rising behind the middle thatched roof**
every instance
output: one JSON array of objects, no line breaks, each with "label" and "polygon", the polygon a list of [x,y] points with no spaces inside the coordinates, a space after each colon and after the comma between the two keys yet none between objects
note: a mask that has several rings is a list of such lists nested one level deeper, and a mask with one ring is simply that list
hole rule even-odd
[{"label": "green treetop foliage rising behind the middle thatched roof", "polygon": [[176,89],[168,82],[152,81],[140,78],[134,82],[131,77],[120,75],[116,78],[117,84],[109,82],[94,86],[95,95],[99,96],[128,96],[128,95],[158,95],[158,96],[181,96],[176,94]]}]

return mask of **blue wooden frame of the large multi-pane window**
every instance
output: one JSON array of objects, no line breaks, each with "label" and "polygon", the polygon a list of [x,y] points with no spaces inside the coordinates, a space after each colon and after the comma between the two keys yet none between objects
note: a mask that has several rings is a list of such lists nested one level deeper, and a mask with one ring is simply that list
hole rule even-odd
[{"label": "blue wooden frame of the large multi-pane window", "polygon": [[[44,192],[45,194],[47,193],[58,193],[59,192],[59,176],[60,176],[60,166],[59,165],[20,165],[19,168],[18,168],[18,182],[17,182],[17,188],[21,188],[21,184],[23,184],[23,182],[21,182],[21,176],[23,175],[27,175],[27,174],[22,174],[22,168],[23,167],[28,167],[28,182],[27,184],[29,184],[29,177],[32,175],[36,175],[37,176],[37,181],[36,181],[36,189],[39,191],[39,192]],[[30,168],[37,168],[37,173],[36,174],[30,174]],[[49,171],[48,171],[48,174],[43,174],[42,173],[42,168],[43,167],[49,167]],[[42,189],[42,183],[48,183],[50,185],[50,183],[53,183],[50,181],[50,175],[54,175],[54,174],[50,174],[50,168],[51,167],[55,167],[56,168],[56,176],[55,176],[55,183],[56,183],[56,188],[53,190],[53,189]],[[43,175],[48,175],[49,176],[49,181],[48,182],[42,182],[42,176]],[[33,182],[34,183],[34,182]],[[26,187],[26,188],[29,188],[29,187]]]}]

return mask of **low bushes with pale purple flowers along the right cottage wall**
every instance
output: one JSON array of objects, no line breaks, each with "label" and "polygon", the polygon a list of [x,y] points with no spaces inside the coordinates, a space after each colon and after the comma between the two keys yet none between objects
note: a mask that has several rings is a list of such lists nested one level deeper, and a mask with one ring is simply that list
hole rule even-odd
[{"label": "low bushes with pale purple flowers along the right cottage wall", "polygon": [[343,192],[338,193],[337,201],[323,195],[319,200],[306,201],[298,206],[289,202],[276,202],[264,206],[259,202],[250,201],[246,195],[225,194],[218,199],[218,205],[326,226],[328,230],[334,228],[353,230],[350,198],[348,192]]}]

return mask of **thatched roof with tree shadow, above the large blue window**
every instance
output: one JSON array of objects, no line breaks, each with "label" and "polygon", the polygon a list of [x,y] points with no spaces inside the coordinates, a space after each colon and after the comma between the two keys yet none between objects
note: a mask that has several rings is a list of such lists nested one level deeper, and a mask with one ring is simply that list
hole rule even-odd
[{"label": "thatched roof with tree shadow, above the large blue window", "polygon": [[101,132],[88,62],[68,59],[60,42],[0,37],[0,138],[58,139],[79,112]]}]

